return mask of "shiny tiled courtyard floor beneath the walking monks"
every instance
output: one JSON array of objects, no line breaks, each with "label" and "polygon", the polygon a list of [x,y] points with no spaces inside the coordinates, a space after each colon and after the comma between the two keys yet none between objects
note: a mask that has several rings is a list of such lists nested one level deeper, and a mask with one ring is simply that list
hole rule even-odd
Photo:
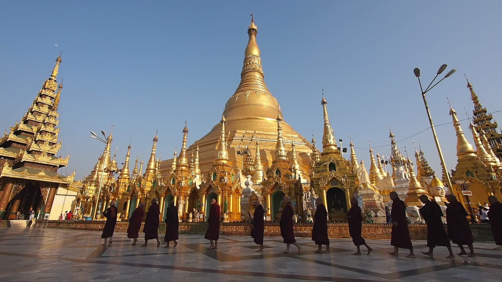
[{"label": "shiny tiled courtyard floor beneath the walking monks", "polygon": [[[425,241],[414,241],[417,258],[392,257],[388,240],[367,240],[370,255],[351,255],[350,239],[332,239],[330,254],[315,254],[310,238],[297,238],[300,254],[284,254],[280,237],[265,238],[257,253],[253,239],[221,236],[218,250],[207,250],[202,235],[180,235],[176,248],[131,246],[117,232],[111,246],[101,246],[101,232],[52,228],[0,228],[0,281],[499,281],[502,247],[475,243],[477,257],[446,259],[446,248],[435,257],[422,255]],[[142,234],[140,234],[141,236]],[[161,240],[163,235],[161,235]],[[140,241],[141,242],[141,241]],[[171,243],[172,245],[172,243]],[[164,243],[161,245],[164,246]],[[458,252],[458,248],[453,250]]]}]

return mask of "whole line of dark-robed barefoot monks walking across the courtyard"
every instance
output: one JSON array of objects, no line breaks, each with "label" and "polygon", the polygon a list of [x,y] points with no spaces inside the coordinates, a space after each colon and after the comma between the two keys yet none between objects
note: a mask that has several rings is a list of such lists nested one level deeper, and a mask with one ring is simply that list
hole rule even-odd
[{"label": "whole line of dark-robed barefoot monks walking across the courtyard", "polygon": [[[415,257],[413,251],[413,244],[410,238],[410,232],[408,230],[408,222],[406,218],[406,205],[399,198],[396,192],[390,193],[390,198],[393,201],[392,209],[388,210],[387,216],[388,221],[392,222],[392,232],[391,232],[391,245],[394,246],[394,251],[389,252],[390,255],[399,256],[399,249],[408,249],[410,253],[406,257]],[[436,246],[444,246],[448,249],[449,255],[446,258],[455,258],[453,254],[450,239],[454,244],[460,248],[460,252],[457,255],[467,255],[469,257],[474,257],[474,249],[472,243],[474,242],[472,232],[467,220],[467,212],[464,206],[457,201],[454,195],[447,195],[447,200],[449,203],[446,208],[446,221],[447,230],[444,229],[442,216],[443,212],[436,202],[432,202],[426,195],[420,196],[420,201],[424,204],[420,208],[420,213],[422,214],[425,222],[427,224],[427,247],[429,250],[422,253],[427,256],[433,256],[433,250]],[[495,196],[489,196],[488,202],[490,204],[489,210],[486,213],[488,218],[491,218],[490,225],[495,240],[495,244],[502,245],[502,204],[497,200]],[[169,207],[166,211],[166,234],[164,236],[164,242],[166,246],[164,248],[170,247],[170,242],[173,241],[173,247],[178,244],[178,208],[174,205],[174,201],[169,202]],[[220,206],[215,199],[210,200],[210,209],[208,214],[208,227],[205,239],[209,240],[210,245],[208,249],[218,249],[218,239],[219,239],[219,227],[220,227]],[[264,245],[264,231],[265,231],[265,209],[262,206],[260,200],[253,202],[255,205],[255,213],[252,220],[252,231],[251,236],[254,242],[260,246],[257,252],[263,252]],[[286,249],[283,253],[290,252],[290,245],[293,244],[298,249],[298,254],[300,254],[301,247],[295,239],[295,233],[293,229],[293,215],[294,208],[291,204],[291,198],[289,196],[284,198],[284,208],[282,209],[281,219],[280,219],[280,229],[281,236],[283,237],[283,242],[286,244]],[[324,206],[321,198],[316,199],[317,210],[314,214],[314,226],[312,228],[312,241],[318,246],[315,250],[316,253],[329,253],[329,237],[328,237],[328,225],[327,225],[327,209]],[[361,208],[357,203],[357,199],[351,199],[351,208],[347,212],[347,221],[349,227],[349,234],[352,237],[352,242],[357,248],[357,251],[352,255],[361,255],[360,246],[364,245],[367,248],[367,254],[369,255],[372,248],[369,247],[364,238],[361,236],[362,229],[362,213]],[[139,238],[139,232],[141,229],[143,217],[145,215],[144,210],[145,204],[141,203],[138,208],[136,208],[129,219],[128,228],[128,238],[133,239],[132,245],[136,245]],[[110,207],[107,208],[103,215],[106,217],[106,223],[103,228],[103,233],[101,238],[104,239],[102,245],[111,245],[113,240],[113,230],[115,229],[115,224],[117,222],[117,208],[115,203],[111,202]],[[146,220],[143,227],[143,232],[145,233],[145,243],[141,245],[142,247],[148,246],[148,240],[155,239],[157,241],[157,247],[160,246],[161,242],[159,240],[159,215],[160,207],[157,203],[157,199],[152,199],[152,205],[148,208],[146,214]],[[447,232],[446,232],[447,231]],[[107,239],[109,238],[109,241]],[[326,246],[323,250],[322,246]],[[469,253],[464,249],[464,246],[469,248]]]}]

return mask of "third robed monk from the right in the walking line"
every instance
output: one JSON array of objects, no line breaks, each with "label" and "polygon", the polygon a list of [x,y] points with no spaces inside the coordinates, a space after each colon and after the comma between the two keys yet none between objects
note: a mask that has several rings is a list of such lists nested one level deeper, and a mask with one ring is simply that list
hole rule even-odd
[{"label": "third robed monk from the right in the walking line", "polygon": [[428,252],[423,251],[422,253],[432,257],[434,247],[445,246],[450,252],[450,255],[446,258],[455,258],[451,250],[450,239],[444,230],[441,207],[439,207],[438,203],[431,202],[426,195],[420,195],[420,201],[424,204],[420,208],[420,214],[427,223],[427,246],[429,247]]}]

